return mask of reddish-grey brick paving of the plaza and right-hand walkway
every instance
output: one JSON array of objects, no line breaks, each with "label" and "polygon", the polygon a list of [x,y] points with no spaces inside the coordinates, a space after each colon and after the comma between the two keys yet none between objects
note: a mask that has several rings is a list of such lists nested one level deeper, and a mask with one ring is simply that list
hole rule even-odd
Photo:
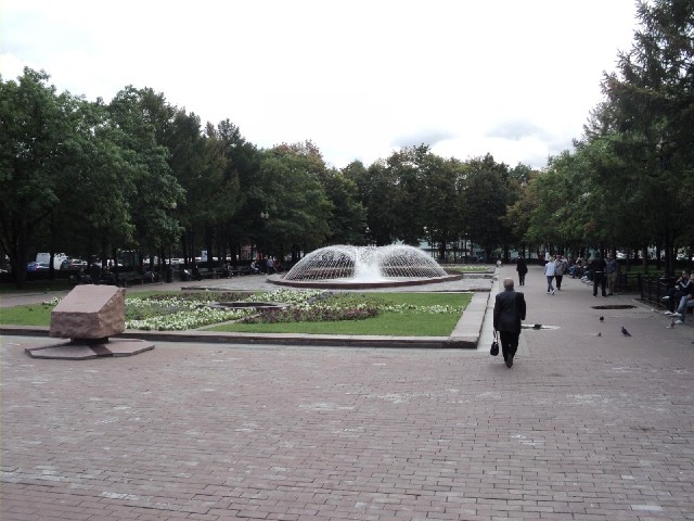
[{"label": "reddish-grey brick paving of the plaza and right-hand walkway", "polygon": [[0,520],[694,519],[694,318],[566,277],[548,295],[539,266],[517,289],[511,369],[489,313],[477,350],[51,360],[5,335]]}]

